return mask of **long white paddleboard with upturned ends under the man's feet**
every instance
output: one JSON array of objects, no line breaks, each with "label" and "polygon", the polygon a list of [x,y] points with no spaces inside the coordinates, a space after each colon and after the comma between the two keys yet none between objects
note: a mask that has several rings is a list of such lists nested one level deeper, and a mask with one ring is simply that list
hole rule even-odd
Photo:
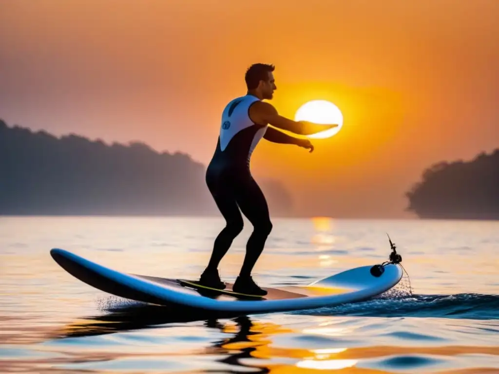
[{"label": "long white paddleboard with upturned ends under the man's feet", "polygon": [[75,278],[115,296],[156,305],[236,313],[282,312],[358,302],[388,291],[403,275],[397,263],[384,265],[384,271],[376,276],[371,272],[373,266],[360,266],[307,285],[262,287],[268,293],[259,297],[232,291],[232,283],[217,290],[200,286],[192,279],[125,273],[60,248],[51,249],[50,255]]}]

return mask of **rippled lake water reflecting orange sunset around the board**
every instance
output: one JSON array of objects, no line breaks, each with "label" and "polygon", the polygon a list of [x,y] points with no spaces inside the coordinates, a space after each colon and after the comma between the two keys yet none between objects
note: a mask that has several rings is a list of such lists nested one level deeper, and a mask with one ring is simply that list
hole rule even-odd
[{"label": "rippled lake water reflecting orange sunset around the board", "polygon": [[[221,264],[233,281],[250,225]],[[409,278],[373,300],[236,319],[172,319],[49,256],[198,277],[217,218],[0,217],[1,373],[499,373],[499,222],[274,219],[254,278],[306,284],[384,261]],[[410,283],[410,288],[409,288]]]}]

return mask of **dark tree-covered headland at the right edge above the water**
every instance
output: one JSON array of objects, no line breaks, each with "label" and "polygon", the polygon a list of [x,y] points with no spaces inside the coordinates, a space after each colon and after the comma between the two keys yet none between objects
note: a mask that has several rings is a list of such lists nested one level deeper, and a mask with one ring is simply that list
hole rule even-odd
[{"label": "dark tree-covered headland at the right edge above the water", "polygon": [[406,196],[422,218],[499,219],[499,149],[432,165]]}]

